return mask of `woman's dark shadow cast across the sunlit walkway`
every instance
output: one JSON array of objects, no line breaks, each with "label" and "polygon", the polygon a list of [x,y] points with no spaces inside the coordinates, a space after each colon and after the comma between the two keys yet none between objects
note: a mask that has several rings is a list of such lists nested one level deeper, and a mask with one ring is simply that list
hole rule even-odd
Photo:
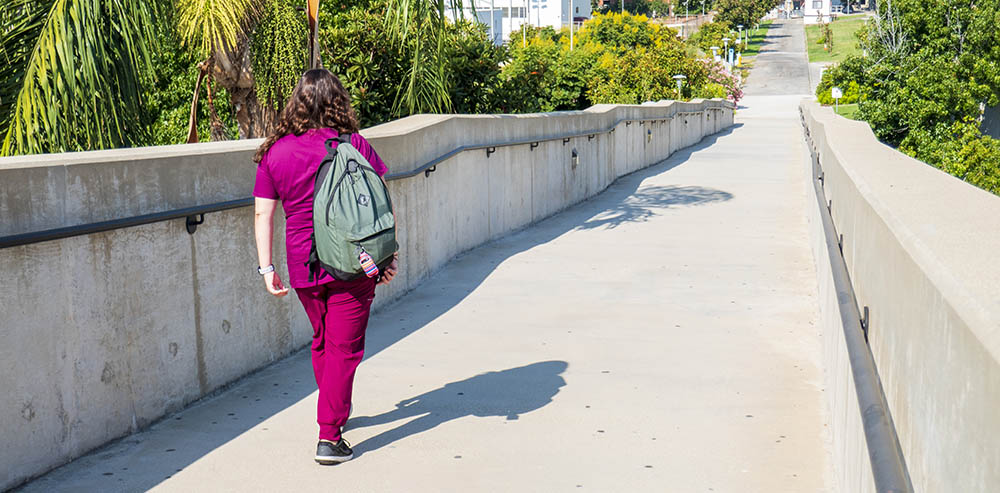
[{"label": "woman's dark shadow cast across the sunlit walkway", "polygon": [[420,416],[356,444],[354,452],[361,455],[465,416],[503,416],[516,420],[520,415],[552,402],[559,389],[566,385],[560,375],[568,366],[565,361],[543,361],[482,373],[403,399],[395,409],[378,416],[351,418],[345,429],[377,426]]}]

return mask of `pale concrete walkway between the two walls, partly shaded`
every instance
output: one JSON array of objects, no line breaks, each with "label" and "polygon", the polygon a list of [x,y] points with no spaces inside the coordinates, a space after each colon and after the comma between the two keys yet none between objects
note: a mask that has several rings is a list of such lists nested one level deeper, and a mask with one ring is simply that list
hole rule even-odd
[{"label": "pale concrete walkway between the two walls, partly shaded", "polygon": [[312,461],[303,352],[24,491],[835,490],[798,99],[378,313],[354,461]]}]

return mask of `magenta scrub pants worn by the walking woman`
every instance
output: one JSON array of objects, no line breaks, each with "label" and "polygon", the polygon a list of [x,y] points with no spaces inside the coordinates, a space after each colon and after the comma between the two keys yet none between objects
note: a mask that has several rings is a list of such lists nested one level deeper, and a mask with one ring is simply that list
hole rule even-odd
[{"label": "magenta scrub pants worn by the walking woman", "polygon": [[351,412],[354,373],[365,354],[365,329],[375,299],[375,280],[361,277],[297,288],[295,294],[313,326],[312,360],[319,402],[319,439],[340,440]]}]

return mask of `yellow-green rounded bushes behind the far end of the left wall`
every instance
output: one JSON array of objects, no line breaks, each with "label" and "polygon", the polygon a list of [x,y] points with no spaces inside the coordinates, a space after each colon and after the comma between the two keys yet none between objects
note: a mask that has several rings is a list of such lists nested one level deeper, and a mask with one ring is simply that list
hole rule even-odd
[{"label": "yellow-green rounded bushes behind the far end of the left wall", "polygon": [[[639,104],[660,99],[740,97],[739,83],[707,60],[690,55],[673,29],[645,16],[596,15],[576,34],[533,30],[515,44],[503,68],[515,111],[582,109],[595,103]],[[674,75],[687,77],[677,93]]]}]

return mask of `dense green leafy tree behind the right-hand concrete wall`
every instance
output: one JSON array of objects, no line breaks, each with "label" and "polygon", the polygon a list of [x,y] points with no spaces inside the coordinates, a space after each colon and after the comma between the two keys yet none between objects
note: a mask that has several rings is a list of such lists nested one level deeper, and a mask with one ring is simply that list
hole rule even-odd
[{"label": "dense green leafy tree behind the right-hand concrete wall", "polygon": [[860,89],[859,117],[879,139],[1000,193],[1000,145],[980,135],[1000,102],[1000,2],[880,0],[859,32],[865,56],[830,70],[818,89]]}]

